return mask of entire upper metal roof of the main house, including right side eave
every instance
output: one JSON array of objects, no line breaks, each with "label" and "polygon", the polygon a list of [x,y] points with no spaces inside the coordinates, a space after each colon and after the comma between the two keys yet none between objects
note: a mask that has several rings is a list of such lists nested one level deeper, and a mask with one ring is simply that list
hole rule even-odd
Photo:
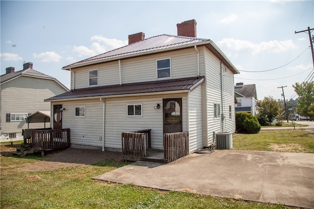
[{"label": "entire upper metal roof of the main house, including right side eave", "polygon": [[113,60],[201,45],[206,46],[235,74],[239,73],[239,71],[236,70],[235,66],[230,62],[226,55],[211,40],[166,34],[144,39],[142,41],[135,42],[133,44],[123,46],[85,60],[81,60],[74,64],[65,66],[62,69],[71,70],[72,68],[78,68]]}]

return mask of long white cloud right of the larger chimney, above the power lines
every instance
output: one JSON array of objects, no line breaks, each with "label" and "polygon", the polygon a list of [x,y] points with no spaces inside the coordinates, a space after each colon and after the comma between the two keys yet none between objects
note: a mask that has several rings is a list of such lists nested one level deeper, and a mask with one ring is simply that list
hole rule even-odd
[{"label": "long white cloud right of the larger chimney, above the power lines", "polygon": [[257,54],[260,52],[278,53],[288,51],[296,47],[293,44],[292,40],[275,40],[254,44],[249,41],[228,38],[224,38],[221,41],[218,41],[217,45],[227,47],[228,49],[233,49],[235,51],[251,50],[252,54]]}]

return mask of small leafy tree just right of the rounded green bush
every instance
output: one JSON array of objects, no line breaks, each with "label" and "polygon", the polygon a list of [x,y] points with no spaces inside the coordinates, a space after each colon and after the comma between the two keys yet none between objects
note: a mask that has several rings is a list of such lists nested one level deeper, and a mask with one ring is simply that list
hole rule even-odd
[{"label": "small leafy tree just right of the rounded green bush", "polygon": [[276,119],[280,111],[280,104],[272,96],[265,96],[263,100],[258,100],[258,106],[261,107],[259,114],[266,117],[268,125]]}]

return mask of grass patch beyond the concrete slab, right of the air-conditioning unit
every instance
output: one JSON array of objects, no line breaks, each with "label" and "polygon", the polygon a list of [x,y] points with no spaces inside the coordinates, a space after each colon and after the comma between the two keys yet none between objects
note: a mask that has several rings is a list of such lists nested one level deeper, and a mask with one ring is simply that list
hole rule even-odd
[{"label": "grass patch beyond the concrete slab, right of the air-conditioning unit", "polygon": [[235,134],[233,148],[277,152],[314,153],[314,134],[304,130],[261,130],[258,134]]}]

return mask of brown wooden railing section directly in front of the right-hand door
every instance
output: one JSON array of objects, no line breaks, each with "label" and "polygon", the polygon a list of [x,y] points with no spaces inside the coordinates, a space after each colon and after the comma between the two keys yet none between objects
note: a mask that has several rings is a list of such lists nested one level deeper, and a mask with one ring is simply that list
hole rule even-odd
[{"label": "brown wooden railing section directly in front of the right-hand door", "polygon": [[164,134],[163,147],[167,163],[188,155],[188,132]]}]

